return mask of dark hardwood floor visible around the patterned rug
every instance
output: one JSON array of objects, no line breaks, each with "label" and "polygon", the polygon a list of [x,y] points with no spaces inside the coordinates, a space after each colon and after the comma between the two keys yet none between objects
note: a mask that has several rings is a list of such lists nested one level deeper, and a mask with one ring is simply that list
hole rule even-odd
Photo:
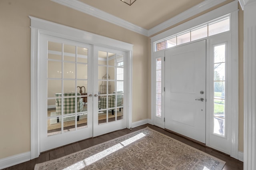
[{"label": "dark hardwood floor visible around the patterned rug", "polygon": [[142,126],[139,126],[139,127],[136,127],[136,128],[132,128],[132,130],[130,130],[130,129],[118,130],[118,131],[115,131],[115,132],[104,134],[102,136],[98,136],[98,137],[95,137],[95,138],[89,138],[89,139],[82,140],[82,141],[79,141],[79,142],[75,142],[75,143],[72,143],[72,144],[69,144],[69,145],[66,145],[66,146],[62,146],[60,148],[49,150],[49,151],[41,153],[38,158],[35,158],[35,159],[30,160],[28,162],[24,162],[22,164],[11,166],[9,168],[5,168],[4,170],[33,170],[35,164],[42,163],[42,162],[45,162],[45,161],[48,161],[48,160],[53,160],[53,159],[56,159],[56,158],[60,158],[62,156],[66,156],[68,154],[77,152],[79,150],[88,148],[90,146],[94,146],[96,144],[100,144],[102,142],[106,142],[108,140],[117,138],[119,136],[128,134],[130,132],[134,132],[136,130],[145,128],[147,126],[154,129],[154,130],[157,130],[158,132],[166,134],[167,136],[170,136],[170,137],[172,137],[176,140],[179,140],[179,141],[181,141],[185,144],[188,144],[188,145],[190,145],[194,148],[202,150],[203,152],[206,152],[206,153],[208,153],[212,156],[215,156],[216,158],[224,160],[226,162],[226,164],[225,164],[223,170],[242,170],[243,169],[243,162],[241,162],[239,160],[236,160],[236,159],[231,158],[230,156],[228,156],[226,154],[220,153],[216,150],[213,150],[211,148],[208,148],[206,146],[203,146],[201,144],[198,144],[196,142],[193,142],[191,140],[183,138],[182,136],[178,136],[177,134],[174,134],[172,132],[168,132],[168,131],[166,131],[162,128],[146,124],[146,125],[142,125]]}]

